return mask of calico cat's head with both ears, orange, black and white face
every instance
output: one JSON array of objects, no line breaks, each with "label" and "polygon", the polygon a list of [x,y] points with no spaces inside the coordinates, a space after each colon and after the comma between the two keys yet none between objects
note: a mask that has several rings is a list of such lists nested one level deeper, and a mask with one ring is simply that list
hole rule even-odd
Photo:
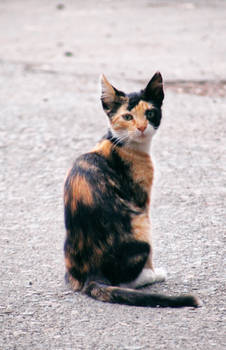
[{"label": "calico cat's head with both ears, orange, black and white face", "polygon": [[126,94],[101,77],[101,102],[110,122],[110,129],[119,141],[148,143],[161,122],[164,99],[163,80],[157,72],[144,90]]}]

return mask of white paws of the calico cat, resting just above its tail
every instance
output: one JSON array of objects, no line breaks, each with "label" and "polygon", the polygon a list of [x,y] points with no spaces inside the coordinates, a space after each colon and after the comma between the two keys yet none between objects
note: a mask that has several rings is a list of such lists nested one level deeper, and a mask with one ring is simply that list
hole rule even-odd
[{"label": "white paws of the calico cat, resting just above its tail", "polygon": [[120,286],[124,288],[141,288],[149,284],[163,282],[166,280],[166,272],[163,269],[143,269],[140,275],[132,282],[122,283]]}]

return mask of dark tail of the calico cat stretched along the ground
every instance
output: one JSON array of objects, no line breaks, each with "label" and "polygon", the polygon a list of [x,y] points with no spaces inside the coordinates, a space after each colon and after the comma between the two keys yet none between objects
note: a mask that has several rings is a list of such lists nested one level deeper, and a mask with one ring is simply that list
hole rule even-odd
[{"label": "dark tail of the calico cat stretched along the ground", "polygon": [[198,298],[192,295],[166,296],[162,294],[147,294],[134,289],[113,287],[96,281],[89,282],[83,292],[94,298],[108,303],[149,306],[149,307],[199,307]]}]

